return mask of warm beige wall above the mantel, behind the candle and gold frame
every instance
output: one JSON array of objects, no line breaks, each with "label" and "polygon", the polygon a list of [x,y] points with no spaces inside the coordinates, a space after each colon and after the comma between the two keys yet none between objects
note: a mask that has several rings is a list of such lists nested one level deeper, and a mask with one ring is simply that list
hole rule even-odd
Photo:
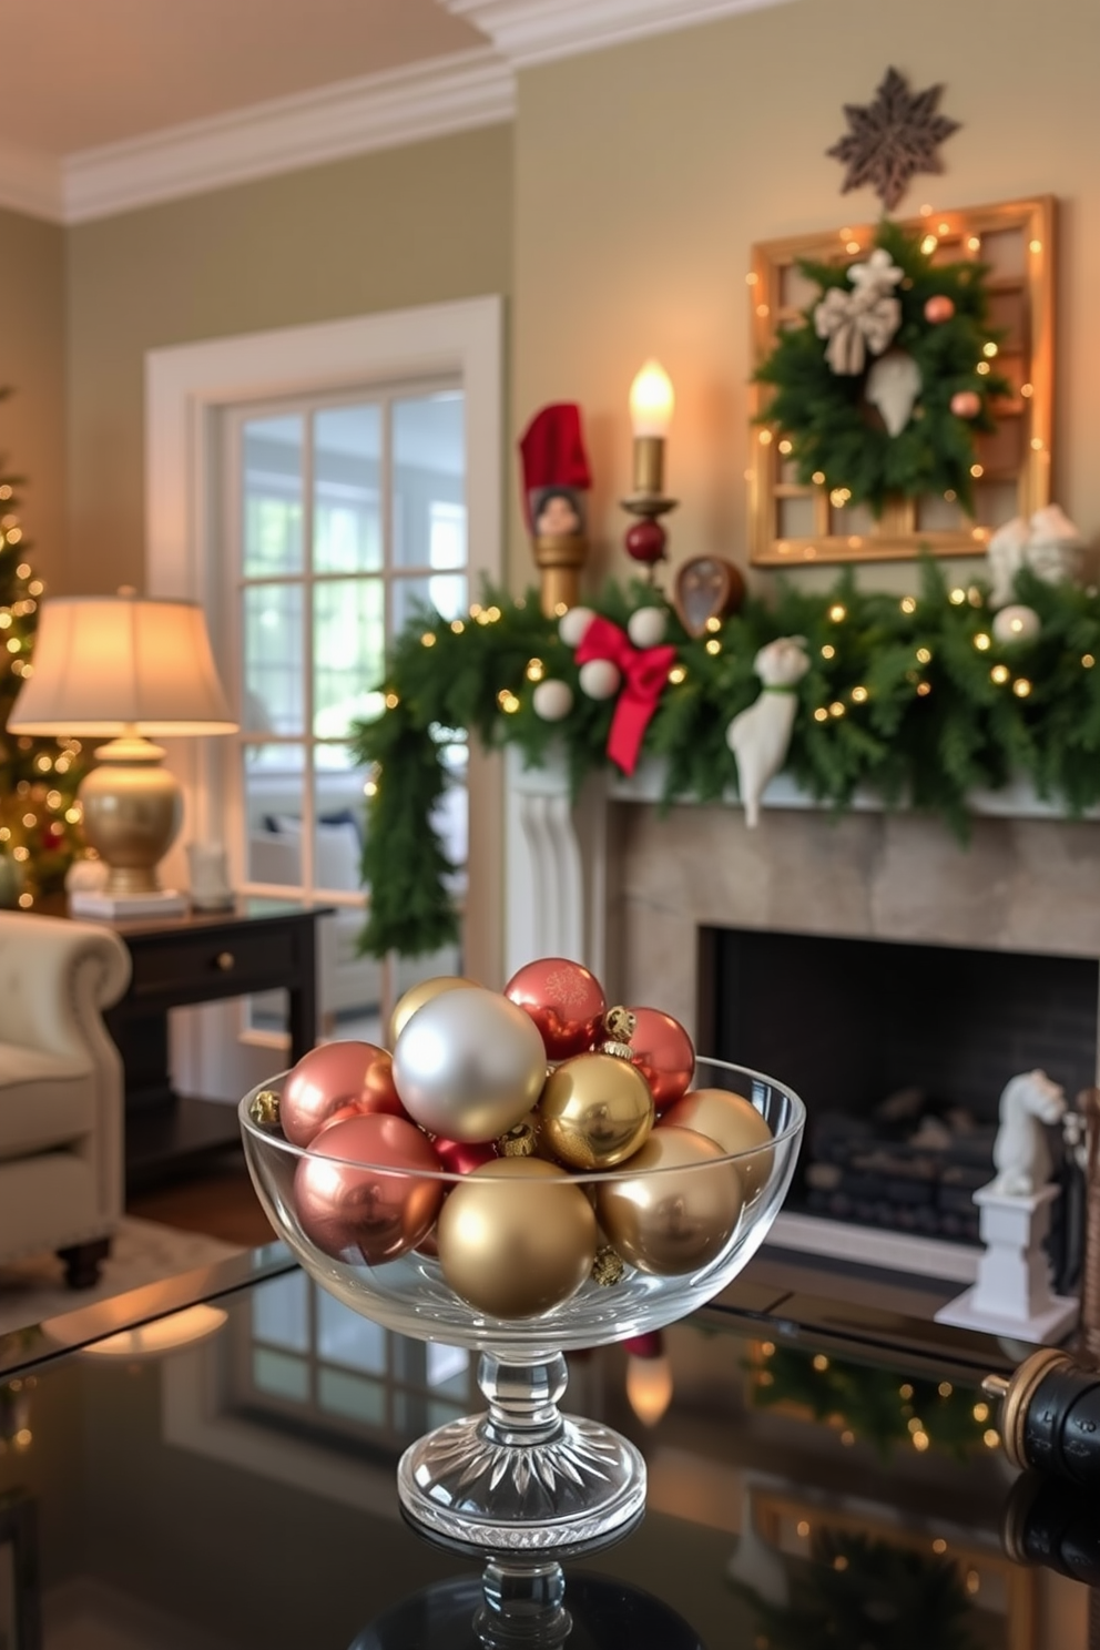
[{"label": "warm beige wall above the mantel, behind the candle and gold frame", "polygon": [[[945,81],[943,112],[963,122],[945,175],[915,180],[902,210],[1060,201],[1054,487],[1097,533],[1098,61],[1097,0],[797,0],[521,76],[515,421],[556,398],[584,406],[609,566],[628,568],[615,500],[628,483],[627,389],[646,355],[678,398],[673,553],[744,561],[749,248],[877,216],[869,190],[841,196],[825,150],[844,130],[841,104],[867,102],[891,63],[915,87]],[[518,578],[529,563],[516,516],[513,543]]]}]

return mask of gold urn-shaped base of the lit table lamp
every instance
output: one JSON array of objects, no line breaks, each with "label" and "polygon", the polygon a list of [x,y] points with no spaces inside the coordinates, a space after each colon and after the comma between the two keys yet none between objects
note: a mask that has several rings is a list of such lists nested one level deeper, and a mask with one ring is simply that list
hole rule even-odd
[{"label": "gold urn-shaped base of the lit table lamp", "polygon": [[107,898],[160,894],[157,866],[183,823],[183,795],[163,754],[150,739],[112,739],[81,785],[84,838],[107,866]]}]

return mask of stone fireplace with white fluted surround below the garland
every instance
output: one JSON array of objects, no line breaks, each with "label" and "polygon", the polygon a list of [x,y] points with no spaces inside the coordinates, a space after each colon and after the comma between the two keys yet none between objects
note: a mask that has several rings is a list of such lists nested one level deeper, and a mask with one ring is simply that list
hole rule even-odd
[{"label": "stone fireplace with white fluted surround below the garland", "polygon": [[[1044,1066],[1070,1101],[1097,1081],[1097,823],[1026,792],[976,797],[961,845],[940,820],[866,804],[836,818],[775,782],[747,830],[739,807],[665,808],[660,790],[643,767],[572,805],[564,762],[523,769],[510,754],[506,965],[579,957],[618,1002],[676,1015],[703,1053],[790,1081],[811,1132],[823,1112],[859,1119],[907,1089],[930,1096],[933,1119],[970,1112],[985,1135],[950,1181],[958,1231],[838,1218],[821,1208],[838,1185],[806,1178],[806,1155],[772,1241],[973,1282],[968,1181],[991,1178],[1004,1081]],[[719,931],[762,949],[721,954]],[[866,1002],[886,1028],[874,1053]]]}]

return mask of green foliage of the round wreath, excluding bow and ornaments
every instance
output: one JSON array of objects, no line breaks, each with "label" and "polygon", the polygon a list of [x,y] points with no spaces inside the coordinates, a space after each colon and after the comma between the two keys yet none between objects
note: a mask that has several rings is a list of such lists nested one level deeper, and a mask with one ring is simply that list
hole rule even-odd
[{"label": "green foliage of the round wreath, excluding bow and ornaments", "polygon": [[[891,436],[867,408],[864,388],[874,356],[854,375],[838,375],[826,361],[826,342],[816,335],[813,312],[830,287],[849,287],[851,266],[810,259],[800,259],[798,267],[820,290],[803,310],[801,325],[782,330],[772,355],[757,370],[760,383],[775,386],[757,422],[772,426],[792,442],[792,462],[803,485],[823,477],[818,485],[844,490],[849,505],[866,503],[876,516],[891,497],[928,493],[950,493],[971,513],[975,431],[993,432],[991,401],[1013,394],[1013,386],[990,370],[985,355],[986,345],[994,348],[998,342],[998,333],[988,327],[988,269],[966,261],[935,264],[932,254],[922,251],[920,236],[897,223],[879,224],[874,246],[889,252],[904,271],[897,289],[902,320],[891,350],[904,350],[920,371],[920,393],[909,424]],[[932,323],[925,318],[925,304],[940,295],[952,300],[955,314]],[[952,396],[958,391],[980,398],[976,417],[952,412]]]}]

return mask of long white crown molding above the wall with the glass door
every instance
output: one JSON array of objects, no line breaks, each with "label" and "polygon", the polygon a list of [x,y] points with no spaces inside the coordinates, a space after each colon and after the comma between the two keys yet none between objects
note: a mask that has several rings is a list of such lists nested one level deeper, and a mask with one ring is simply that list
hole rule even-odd
[{"label": "long white crown molding above the wall with the glass door", "polygon": [[[59,163],[58,208],[86,223],[157,201],[297,172],[378,148],[496,125],[516,111],[515,74],[490,48],[322,86],[86,148]],[[5,200],[0,153],[0,201]]]}]

